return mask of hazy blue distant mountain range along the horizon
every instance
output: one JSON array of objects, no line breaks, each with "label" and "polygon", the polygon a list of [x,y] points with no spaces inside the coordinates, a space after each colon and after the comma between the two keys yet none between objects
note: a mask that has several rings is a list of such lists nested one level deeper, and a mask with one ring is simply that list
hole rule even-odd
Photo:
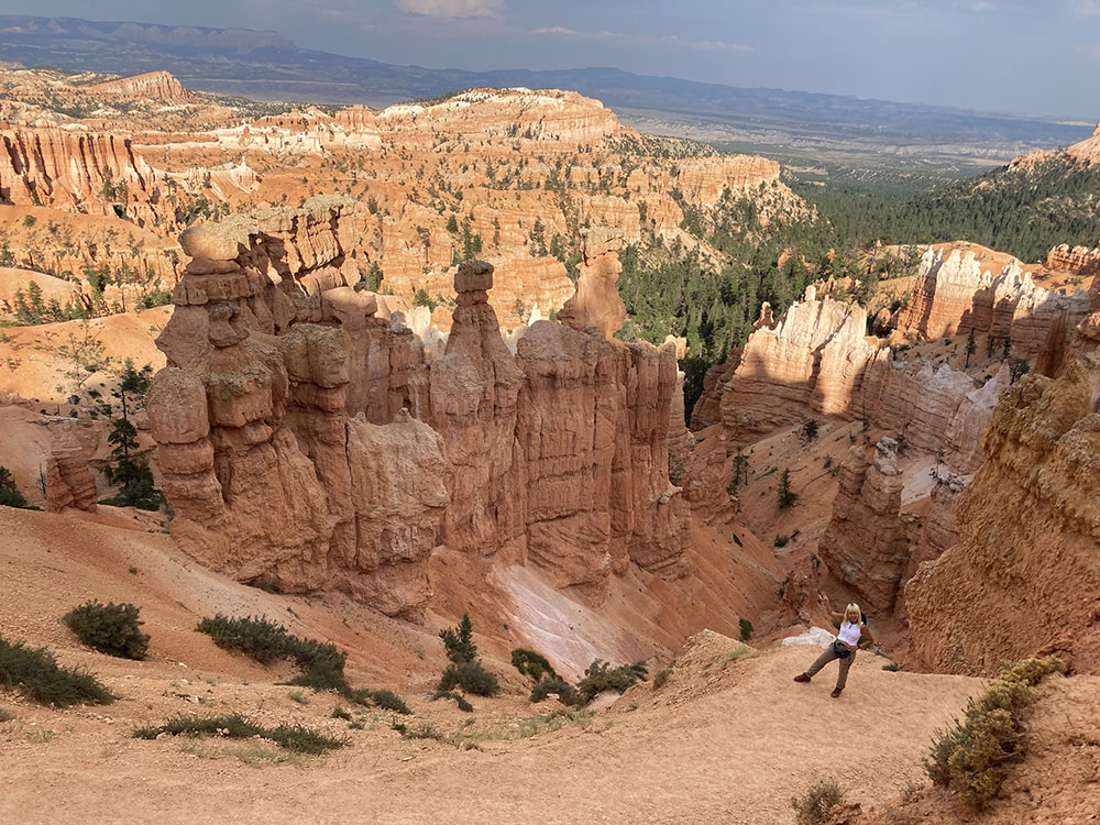
[{"label": "hazy blue distant mountain range along the horizon", "polygon": [[[121,75],[167,69],[191,89],[381,107],[477,86],[572,89],[649,131],[750,143],[1007,160],[1091,127],[920,103],[748,89],[615,68],[466,72],[299,48],[271,31],[0,15],[0,59]],[[1100,113],[1098,113],[1100,114]]]}]

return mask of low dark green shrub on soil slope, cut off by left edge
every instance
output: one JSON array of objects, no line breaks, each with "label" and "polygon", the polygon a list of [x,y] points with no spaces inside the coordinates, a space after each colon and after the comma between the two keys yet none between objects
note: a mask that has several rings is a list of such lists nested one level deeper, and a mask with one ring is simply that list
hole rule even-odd
[{"label": "low dark green shrub on soil slope, cut off by left edge", "polygon": [[29,648],[0,637],[0,688],[20,690],[44,705],[67,707],[81,702],[106,705],[116,700],[91,673],[57,664],[45,648]]}]

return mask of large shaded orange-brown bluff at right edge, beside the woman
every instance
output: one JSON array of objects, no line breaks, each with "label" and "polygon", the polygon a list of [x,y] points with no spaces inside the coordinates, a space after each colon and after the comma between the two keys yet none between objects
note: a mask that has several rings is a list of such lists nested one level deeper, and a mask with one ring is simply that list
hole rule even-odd
[{"label": "large shaded orange-brown bluff at right edge, beside the woman", "polygon": [[[1057,649],[1100,668],[1100,416],[1085,365],[1001,396],[986,461],[959,497],[958,544],[909,583],[913,649],[938,671],[991,672]],[[1090,652],[1091,651],[1091,652]]]}]

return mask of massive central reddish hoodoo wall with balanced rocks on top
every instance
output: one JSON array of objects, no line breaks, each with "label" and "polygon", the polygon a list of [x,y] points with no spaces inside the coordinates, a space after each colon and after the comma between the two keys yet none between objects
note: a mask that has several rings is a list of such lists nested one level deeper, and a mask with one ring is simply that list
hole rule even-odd
[{"label": "massive central reddish hoodoo wall with balanced rocks on top", "polygon": [[624,312],[605,300],[614,249],[585,265],[572,326],[537,321],[515,354],[488,302],[493,267],[463,264],[446,344],[426,351],[400,315],[380,317],[382,296],[348,285],[355,231],[346,204],[319,198],[180,239],[194,260],[148,410],[188,552],[410,618],[437,544],[592,598],[631,563],[681,576],[676,344],[605,337]]}]

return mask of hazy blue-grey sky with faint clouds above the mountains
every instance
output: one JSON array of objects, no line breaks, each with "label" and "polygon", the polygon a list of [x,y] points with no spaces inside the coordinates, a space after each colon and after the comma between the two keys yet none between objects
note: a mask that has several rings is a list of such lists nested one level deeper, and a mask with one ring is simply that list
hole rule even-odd
[{"label": "hazy blue-grey sky with faint clouds above the mountains", "polygon": [[1096,122],[1100,0],[0,0],[432,68],[614,66]]}]

